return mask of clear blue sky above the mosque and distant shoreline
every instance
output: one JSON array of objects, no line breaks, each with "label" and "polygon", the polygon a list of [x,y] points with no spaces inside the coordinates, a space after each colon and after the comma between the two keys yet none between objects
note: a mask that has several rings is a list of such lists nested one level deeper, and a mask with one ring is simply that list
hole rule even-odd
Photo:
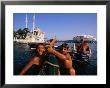
[{"label": "clear blue sky above the mosque and distant shoreline", "polygon": [[[27,13],[28,28],[32,30],[34,13]],[[13,14],[14,31],[25,28],[26,13]],[[44,33],[45,38],[72,40],[76,35],[93,35],[97,38],[96,13],[35,13],[35,26]]]}]

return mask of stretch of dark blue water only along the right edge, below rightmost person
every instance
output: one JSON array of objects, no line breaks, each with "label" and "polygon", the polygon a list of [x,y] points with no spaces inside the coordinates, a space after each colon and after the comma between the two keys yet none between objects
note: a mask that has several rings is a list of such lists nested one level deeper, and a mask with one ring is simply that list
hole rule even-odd
[{"label": "stretch of dark blue water only along the right edge, below rightmost person", "polygon": [[74,62],[74,68],[78,75],[97,75],[97,44],[90,44],[91,57],[85,64],[78,65]]}]

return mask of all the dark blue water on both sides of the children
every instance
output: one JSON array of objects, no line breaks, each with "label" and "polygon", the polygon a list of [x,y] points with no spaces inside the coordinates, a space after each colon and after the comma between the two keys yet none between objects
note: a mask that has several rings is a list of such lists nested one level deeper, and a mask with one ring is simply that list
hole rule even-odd
[{"label": "all the dark blue water on both sides of the children", "polygon": [[[62,43],[57,43],[61,45]],[[73,43],[68,43],[70,47]],[[77,75],[97,75],[97,44],[90,44],[92,51],[91,57],[88,63],[79,65],[77,62],[73,62],[73,67],[76,70]],[[14,44],[14,75],[18,75],[21,69],[35,56],[35,51],[31,50],[26,44]],[[25,75],[37,75],[38,66],[33,65]]]}]

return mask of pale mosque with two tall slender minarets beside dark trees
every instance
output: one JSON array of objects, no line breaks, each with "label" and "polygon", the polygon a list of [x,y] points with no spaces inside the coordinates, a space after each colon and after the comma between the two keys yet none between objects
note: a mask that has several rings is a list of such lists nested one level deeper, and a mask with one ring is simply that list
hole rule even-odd
[{"label": "pale mosque with two tall slender minarets beside dark trees", "polygon": [[[28,28],[28,19],[27,14],[25,18],[25,28]],[[32,21],[32,31],[30,33],[27,33],[27,36],[25,39],[16,39],[14,41],[20,42],[20,43],[44,43],[44,32],[41,31],[39,27],[35,27],[35,14],[33,15],[33,21]]]}]

